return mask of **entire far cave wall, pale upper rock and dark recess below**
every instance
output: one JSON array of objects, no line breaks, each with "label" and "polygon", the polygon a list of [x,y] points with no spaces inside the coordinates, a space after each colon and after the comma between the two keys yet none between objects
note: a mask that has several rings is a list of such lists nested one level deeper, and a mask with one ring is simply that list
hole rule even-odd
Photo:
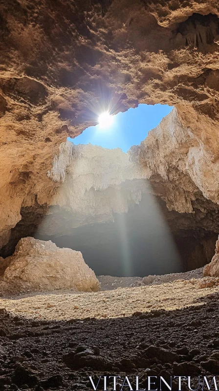
[{"label": "entire far cave wall, pale upper rock and dark recess below", "polygon": [[[180,150],[182,139],[193,148],[188,132],[174,109],[128,153],[61,144],[47,172],[60,184],[52,205],[22,208],[0,254],[13,254],[18,240],[31,235],[81,251],[98,274],[140,276],[204,266],[219,232],[218,204],[192,179],[198,170],[204,178],[200,167],[207,163],[199,166]],[[214,190],[208,183],[203,181],[206,192]],[[124,271],[125,259],[130,270]]]}]

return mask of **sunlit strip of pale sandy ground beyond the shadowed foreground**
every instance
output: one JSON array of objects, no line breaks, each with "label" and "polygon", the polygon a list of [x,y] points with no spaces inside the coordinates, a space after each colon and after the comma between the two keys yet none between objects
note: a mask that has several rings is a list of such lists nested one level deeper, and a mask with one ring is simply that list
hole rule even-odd
[{"label": "sunlit strip of pale sandy ground beyond the shadowed foreground", "polygon": [[[200,289],[202,280],[175,281],[157,285],[117,288],[97,293],[47,293],[31,297],[0,299],[0,307],[13,315],[42,320],[118,318],[136,311],[173,310],[204,302],[219,287]],[[202,298],[200,300],[200,298]]]}]

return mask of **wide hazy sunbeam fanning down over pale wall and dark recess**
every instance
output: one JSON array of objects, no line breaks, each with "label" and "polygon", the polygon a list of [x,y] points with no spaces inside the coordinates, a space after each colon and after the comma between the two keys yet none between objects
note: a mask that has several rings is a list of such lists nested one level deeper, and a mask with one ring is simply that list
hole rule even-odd
[{"label": "wide hazy sunbeam fanning down over pale wall and dark recess", "polygon": [[181,271],[144,168],[131,163],[128,154],[66,142],[52,175],[65,181],[36,238],[81,251],[96,274],[143,277]]}]

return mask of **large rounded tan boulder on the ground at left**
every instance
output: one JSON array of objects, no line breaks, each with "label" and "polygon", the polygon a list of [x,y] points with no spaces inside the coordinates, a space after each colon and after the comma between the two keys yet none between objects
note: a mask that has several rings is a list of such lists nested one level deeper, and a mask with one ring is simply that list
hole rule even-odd
[{"label": "large rounded tan boulder on the ground at left", "polygon": [[23,238],[0,279],[1,293],[69,289],[96,292],[99,282],[82,254],[51,241]]}]

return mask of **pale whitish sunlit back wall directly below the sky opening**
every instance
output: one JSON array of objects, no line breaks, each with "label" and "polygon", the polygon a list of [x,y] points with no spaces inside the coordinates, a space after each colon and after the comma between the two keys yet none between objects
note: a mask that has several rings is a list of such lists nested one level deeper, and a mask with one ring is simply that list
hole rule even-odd
[{"label": "pale whitish sunlit back wall directly below the sky opening", "polygon": [[65,177],[53,199],[54,207],[40,227],[40,233],[48,235],[57,233],[58,226],[61,234],[68,234],[73,227],[113,221],[114,213],[127,213],[131,205],[138,204],[148,187],[141,180],[144,173],[139,165],[120,148],[76,146],[69,141],[61,145],[48,175],[59,181]]}]

